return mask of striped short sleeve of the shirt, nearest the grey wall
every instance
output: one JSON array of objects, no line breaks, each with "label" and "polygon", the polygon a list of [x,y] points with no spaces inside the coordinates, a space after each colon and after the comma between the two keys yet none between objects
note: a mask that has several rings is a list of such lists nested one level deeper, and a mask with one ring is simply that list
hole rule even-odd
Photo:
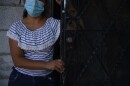
[{"label": "striped short sleeve of the shirt, nearest the grey wall", "polygon": [[10,26],[9,30],[7,31],[7,37],[18,41],[18,31],[16,23]]}]

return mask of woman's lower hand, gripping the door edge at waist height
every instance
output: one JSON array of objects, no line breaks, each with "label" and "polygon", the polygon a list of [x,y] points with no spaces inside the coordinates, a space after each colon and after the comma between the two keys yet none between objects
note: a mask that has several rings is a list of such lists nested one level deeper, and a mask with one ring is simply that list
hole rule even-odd
[{"label": "woman's lower hand, gripping the door edge at waist height", "polygon": [[49,70],[56,70],[60,73],[64,72],[65,69],[64,62],[60,59],[49,61],[47,67]]}]

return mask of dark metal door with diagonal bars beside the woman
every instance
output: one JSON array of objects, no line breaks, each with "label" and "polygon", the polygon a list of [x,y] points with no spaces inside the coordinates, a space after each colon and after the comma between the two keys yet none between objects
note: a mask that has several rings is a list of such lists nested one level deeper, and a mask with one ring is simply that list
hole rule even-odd
[{"label": "dark metal door with diagonal bars beside the woman", "polygon": [[130,86],[129,8],[129,0],[63,1],[63,86]]}]

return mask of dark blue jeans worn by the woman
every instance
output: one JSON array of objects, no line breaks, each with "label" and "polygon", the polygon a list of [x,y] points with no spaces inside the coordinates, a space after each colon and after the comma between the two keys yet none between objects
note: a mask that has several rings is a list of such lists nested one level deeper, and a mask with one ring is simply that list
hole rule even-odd
[{"label": "dark blue jeans worn by the woman", "polygon": [[54,74],[48,76],[28,76],[13,69],[9,77],[8,86],[55,86]]}]

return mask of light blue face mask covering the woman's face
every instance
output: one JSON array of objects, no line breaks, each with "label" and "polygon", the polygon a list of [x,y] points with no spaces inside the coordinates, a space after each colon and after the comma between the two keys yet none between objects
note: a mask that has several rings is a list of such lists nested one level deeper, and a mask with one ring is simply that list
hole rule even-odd
[{"label": "light blue face mask covering the woman's face", "polygon": [[39,0],[26,0],[24,8],[32,17],[38,17],[44,12],[44,3]]}]

